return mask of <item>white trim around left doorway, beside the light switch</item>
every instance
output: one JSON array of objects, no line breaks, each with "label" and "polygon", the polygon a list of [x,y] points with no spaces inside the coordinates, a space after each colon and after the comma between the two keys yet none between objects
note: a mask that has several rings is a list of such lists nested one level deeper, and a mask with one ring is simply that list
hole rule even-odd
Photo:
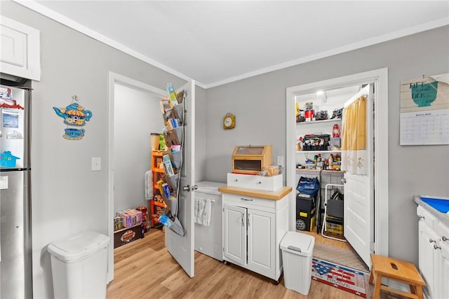
[{"label": "white trim around left doorway, beside the light switch", "polygon": [[107,283],[114,279],[114,85],[147,92],[156,97],[165,97],[166,90],[155,88],[140,81],[121,76],[112,71],[108,74],[107,102],[107,235],[111,239],[107,254]]}]

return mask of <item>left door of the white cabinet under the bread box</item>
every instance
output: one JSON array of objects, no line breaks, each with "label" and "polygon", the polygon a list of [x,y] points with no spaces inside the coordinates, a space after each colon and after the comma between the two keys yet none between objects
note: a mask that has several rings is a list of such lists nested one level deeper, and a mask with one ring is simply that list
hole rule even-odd
[{"label": "left door of the white cabinet under the bread box", "polygon": [[246,265],[246,209],[224,205],[223,258]]}]

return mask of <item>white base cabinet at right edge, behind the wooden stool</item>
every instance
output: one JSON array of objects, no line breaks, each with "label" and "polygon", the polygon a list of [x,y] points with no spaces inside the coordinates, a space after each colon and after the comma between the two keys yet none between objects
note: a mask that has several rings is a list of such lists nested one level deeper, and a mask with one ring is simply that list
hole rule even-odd
[{"label": "white base cabinet at right edge, behind the wooden stool", "polygon": [[427,286],[424,292],[433,299],[447,299],[449,295],[449,228],[422,206],[420,217],[419,267]]}]

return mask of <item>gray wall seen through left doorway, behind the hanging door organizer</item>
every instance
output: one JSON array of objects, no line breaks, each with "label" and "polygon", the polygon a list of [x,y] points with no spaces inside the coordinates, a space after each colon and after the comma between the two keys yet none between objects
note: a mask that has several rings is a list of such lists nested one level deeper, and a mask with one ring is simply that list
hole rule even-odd
[{"label": "gray wall seen through left doorway, behind the hanging door organizer", "polygon": [[150,133],[162,127],[159,97],[115,84],[114,211],[149,207],[144,187],[152,164]]}]

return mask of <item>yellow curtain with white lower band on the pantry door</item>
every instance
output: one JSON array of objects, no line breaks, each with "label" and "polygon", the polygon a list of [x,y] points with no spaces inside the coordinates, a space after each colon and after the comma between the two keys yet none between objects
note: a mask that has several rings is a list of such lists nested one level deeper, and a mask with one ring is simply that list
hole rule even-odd
[{"label": "yellow curtain with white lower band on the pantry door", "polygon": [[366,95],[358,97],[343,109],[342,170],[366,174]]}]

